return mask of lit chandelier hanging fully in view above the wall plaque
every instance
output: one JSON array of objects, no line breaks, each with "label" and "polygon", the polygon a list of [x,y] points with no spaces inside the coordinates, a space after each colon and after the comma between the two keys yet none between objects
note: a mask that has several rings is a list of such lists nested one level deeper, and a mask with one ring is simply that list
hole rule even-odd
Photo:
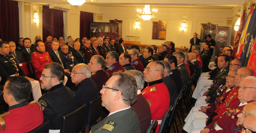
[{"label": "lit chandelier hanging fully in view above the wall plaque", "polygon": [[145,21],[150,20],[151,18],[156,18],[156,12],[158,11],[157,9],[152,10],[153,13],[150,12],[150,5],[145,5],[143,9],[143,13],[141,9],[137,9],[137,17],[142,18]]}]

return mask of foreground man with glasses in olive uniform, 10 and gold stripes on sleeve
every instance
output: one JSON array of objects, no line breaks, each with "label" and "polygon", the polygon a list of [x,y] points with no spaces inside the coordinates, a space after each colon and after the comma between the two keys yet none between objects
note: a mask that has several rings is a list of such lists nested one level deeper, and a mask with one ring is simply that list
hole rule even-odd
[{"label": "foreground man with glasses in olive uniform, 10 and gold stripes on sleeve", "polygon": [[141,133],[139,118],[130,107],[137,100],[137,83],[131,74],[114,73],[100,93],[102,106],[110,114],[90,133]]}]

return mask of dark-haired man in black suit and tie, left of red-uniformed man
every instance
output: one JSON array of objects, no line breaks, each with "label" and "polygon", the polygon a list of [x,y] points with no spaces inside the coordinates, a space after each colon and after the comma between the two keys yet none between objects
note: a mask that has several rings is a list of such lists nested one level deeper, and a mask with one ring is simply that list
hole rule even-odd
[{"label": "dark-haired man in black suit and tie, left of red-uniformed man", "polygon": [[24,59],[24,62],[29,63],[31,60],[31,53],[35,52],[36,46],[31,45],[30,38],[24,38],[23,45],[24,45],[24,48],[21,51],[22,57]]}]

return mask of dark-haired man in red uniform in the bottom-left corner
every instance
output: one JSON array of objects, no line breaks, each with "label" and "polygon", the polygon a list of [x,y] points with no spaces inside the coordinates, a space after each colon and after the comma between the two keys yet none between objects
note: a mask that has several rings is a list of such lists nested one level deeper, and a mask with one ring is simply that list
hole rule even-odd
[{"label": "dark-haired man in red uniform in the bottom-left corner", "polygon": [[9,111],[0,115],[0,133],[27,133],[43,123],[41,104],[37,101],[28,103],[31,93],[28,79],[9,77],[3,92]]}]

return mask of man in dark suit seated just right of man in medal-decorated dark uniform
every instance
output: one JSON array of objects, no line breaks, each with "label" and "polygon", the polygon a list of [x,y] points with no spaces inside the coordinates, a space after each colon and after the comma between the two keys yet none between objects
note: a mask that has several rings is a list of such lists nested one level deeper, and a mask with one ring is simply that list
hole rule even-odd
[{"label": "man in dark suit seated just right of man in medal-decorated dark uniform", "polygon": [[76,41],[74,43],[74,49],[72,49],[71,52],[78,63],[89,63],[89,60],[85,58],[84,53],[80,51],[80,42]]}]

